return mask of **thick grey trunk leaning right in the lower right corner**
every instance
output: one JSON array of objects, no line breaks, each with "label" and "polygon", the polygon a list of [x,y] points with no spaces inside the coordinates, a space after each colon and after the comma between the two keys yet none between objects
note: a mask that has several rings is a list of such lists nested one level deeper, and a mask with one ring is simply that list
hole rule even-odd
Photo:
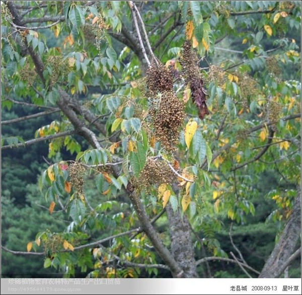
[{"label": "thick grey trunk leaning right in the lower right corner", "polygon": [[285,225],[274,250],[268,257],[259,277],[279,277],[286,267],[299,255],[296,251],[295,257],[292,253],[296,247],[297,240],[301,234],[301,188],[297,188],[291,215]]}]

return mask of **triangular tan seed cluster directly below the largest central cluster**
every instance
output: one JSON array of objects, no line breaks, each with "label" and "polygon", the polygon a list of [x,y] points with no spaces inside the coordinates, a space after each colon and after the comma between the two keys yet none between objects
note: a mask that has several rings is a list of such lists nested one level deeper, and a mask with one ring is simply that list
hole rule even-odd
[{"label": "triangular tan seed cluster directly below the largest central cluster", "polygon": [[140,172],[134,186],[138,188],[147,188],[150,185],[173,183],[175,181],[176,175],[165,161],[147,158],[146,164]]}]

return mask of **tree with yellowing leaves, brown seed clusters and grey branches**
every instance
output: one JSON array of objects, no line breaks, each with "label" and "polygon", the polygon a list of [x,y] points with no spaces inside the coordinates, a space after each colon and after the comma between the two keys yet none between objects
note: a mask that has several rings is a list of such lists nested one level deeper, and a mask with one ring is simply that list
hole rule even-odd
[{"label": "tree with yellowing leaves, brown seed clusters and grey branches", "polygon": [[[48,142],[39,187],[68,220],[3,250],[90,277],[211,276],[215,260],[278,277],[300,255],[298,2],[4,2],[2,26],[2,107],[43,109],[2,125],[59,112],[2,150]],[[256,270],[232,228],[264,197],[280,237]],[[217,239],[227,220],[239,257]]]}]

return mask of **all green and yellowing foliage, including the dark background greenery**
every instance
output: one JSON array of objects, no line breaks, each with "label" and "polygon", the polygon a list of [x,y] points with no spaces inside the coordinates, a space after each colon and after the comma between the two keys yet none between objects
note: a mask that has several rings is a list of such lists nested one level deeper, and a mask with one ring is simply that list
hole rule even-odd
[{"label": "all green and yellowing foliage, including the dark background greenery", "polygon": [[[2,126],[2,245],[45,254],[3,251],[3,276],[171,276],[152,267],[163,260],[147,233],[121,234],[140,226],[133,190],[150,220],[166,206],[187,216],[196,261],[238,254],[233,227],[261,271],[290,217],[300,183],[300,3],[136,2],[158,58],[140,25],[151,69],[129,5],[16,2],[26,12],[19,23],[1,7],[2,121],[58,108]],[[169,248],[165,214],[155,228]],[[289,275],[299,269],[294,262]],[[218,260],[197,271],[245,277]]]}]

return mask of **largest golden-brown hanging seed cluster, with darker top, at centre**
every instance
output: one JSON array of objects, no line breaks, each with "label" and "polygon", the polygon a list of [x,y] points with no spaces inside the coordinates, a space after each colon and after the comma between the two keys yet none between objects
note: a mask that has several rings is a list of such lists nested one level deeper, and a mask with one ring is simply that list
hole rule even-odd
[{"label": "largest golden-brown hanging seed cluster, with darker top, at centre", "polygon": [[184,103],[176,97],[171,73],[164,65],[148,69],[146,84],[150,97],[149,117],[156,140],[167,151],[173,151],[179,140],[179,127],[185,119]]}]

